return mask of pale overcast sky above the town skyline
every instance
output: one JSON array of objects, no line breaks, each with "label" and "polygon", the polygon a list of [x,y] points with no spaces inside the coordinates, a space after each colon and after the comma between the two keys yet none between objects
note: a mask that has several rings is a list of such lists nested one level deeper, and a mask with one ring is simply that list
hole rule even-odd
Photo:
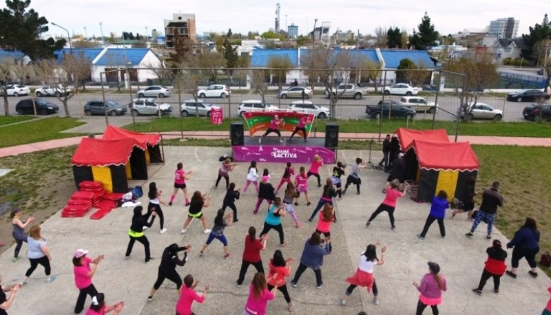
[{"label": "pale overcast sky above the town skyline", "polygon": [[[1,1],[0,8],[6,5]],[[164,33],[164,19],[172,13],[195,14],[197,34],[203,32],[260,33],[274,27],[275,3],[280,3],[280,28],[298,25],[299,34],[313,29],[322,21],[331,22],[331,33],[337,29],[360,30],[374,34],[377,27],[397,26],[411,33],[417,30],[424,12],[441,34],[454,34],[468,28],[485,28],[490,21],[514,17],[520,20],[519,34],[541,23],[545,10],[551,8],[545,0],[32,0],[31,8],[48,21],[67,28],[71,34],[100,36],[123,31],[149,34],[152,29]],[[550,10],[551,11],[551,10]],[[65,36],[65,31],[50,26],[50,34]]]}]

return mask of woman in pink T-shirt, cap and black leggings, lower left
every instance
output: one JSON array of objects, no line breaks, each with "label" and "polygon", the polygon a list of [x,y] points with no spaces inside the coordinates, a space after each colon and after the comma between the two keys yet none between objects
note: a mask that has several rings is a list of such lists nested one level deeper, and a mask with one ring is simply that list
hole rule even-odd
[{"label": "woman in pink T-shirt, cap and black leggings, lower left", "polygon": [[[87,295],[90,295],[91,298],[98,295],[98,290],[92,284],[92,276],[94,276],[98,269],[98,263],[103,260],[103,255],[99,255],[96,259],[91,259],[86,256],[87,253],[87,250],[79,249],[73,255],[74,284],[79,289],[79,298],[76,299],[74,314],[82,312]],[[90,266],[90,263],[94,265],[93,268]]]}]

